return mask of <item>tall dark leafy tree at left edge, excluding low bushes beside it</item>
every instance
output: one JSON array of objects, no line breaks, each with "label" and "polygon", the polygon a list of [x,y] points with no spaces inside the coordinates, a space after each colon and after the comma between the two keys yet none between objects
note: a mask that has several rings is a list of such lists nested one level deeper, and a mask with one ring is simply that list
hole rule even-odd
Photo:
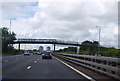
[{"label": "tall dark leafy tree at left edge, excluding low bushes beside it", "polygon": [[8,49],[13,49],[10,43],[16,39],[16,34],[10,32],[7,27],[0,28],[2,30],[2,52],[8,52]]}]

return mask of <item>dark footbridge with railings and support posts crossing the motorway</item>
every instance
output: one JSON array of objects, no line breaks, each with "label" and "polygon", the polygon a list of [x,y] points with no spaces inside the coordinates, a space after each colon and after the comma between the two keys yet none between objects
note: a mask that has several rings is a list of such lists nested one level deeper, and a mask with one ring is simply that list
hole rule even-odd
[{"label": "dark footbridge with railings and support posts crossing the motorway", "polygon": [[57,39],[17,39],[17,40],[14,40],[11,44],[19,44],[18,46],[19,50],[20,50],[20,44],[53,44],[54,51],[55,51],[56,44],[81,46],[81,44],[79,44],[78,42],[62,41]]}]

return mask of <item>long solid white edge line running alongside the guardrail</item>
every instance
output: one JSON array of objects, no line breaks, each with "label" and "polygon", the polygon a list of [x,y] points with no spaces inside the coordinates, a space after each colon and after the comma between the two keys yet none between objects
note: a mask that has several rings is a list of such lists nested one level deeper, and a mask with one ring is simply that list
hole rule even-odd
[{"label": "long solid white edge line running alongside the guardrail", "polygon": [[57,59],[58,61],[62,62],[63,64],[65,64],[66,66],[68,66],[69,68],[71,68],[72,70],[76,71],[76,72],[79,73],[80,75],[84,76],[84,77],[87,78],[88,80],[90,80],[90,81],[96,81],[96,80],[94,80],[93,78],[91,78],[90,76],[88,76],[88,75],[80,72],[79,70],[77,70],[77,69],[73,68],[72,66],[68,65],[67,63],[63,62],[62,60],[60,60],[60,59],[58,59],[58,58],[56,58],[56,57],[54,57],[54,58]]}]

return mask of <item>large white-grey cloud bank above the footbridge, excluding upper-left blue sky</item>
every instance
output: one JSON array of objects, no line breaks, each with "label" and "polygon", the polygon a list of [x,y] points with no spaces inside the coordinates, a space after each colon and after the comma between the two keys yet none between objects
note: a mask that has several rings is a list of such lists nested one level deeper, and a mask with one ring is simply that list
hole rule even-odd
[{"label": "large white-grey cloud bank above the footbridge, excluding upper-left blue sky", "polygon": [[[116,5],[117,3],[113,2],[39,2],[34,16],[27,18],[25,22],[22,22],[23,24],[18,24],[18,29],[20,29],[18,32],[21,32],[21,26],[28,24],[25,26],[25,32],[30,33],[29,38],[57,38],[74,41],[79,38],[81,42],[98,40],[96,28],[98,25],[102,27],[101,44],[115,46],[114,42],[118,40],[117,33],[114,33],[118,15]],[[19,7],[15,13],[17,10]]]}]

